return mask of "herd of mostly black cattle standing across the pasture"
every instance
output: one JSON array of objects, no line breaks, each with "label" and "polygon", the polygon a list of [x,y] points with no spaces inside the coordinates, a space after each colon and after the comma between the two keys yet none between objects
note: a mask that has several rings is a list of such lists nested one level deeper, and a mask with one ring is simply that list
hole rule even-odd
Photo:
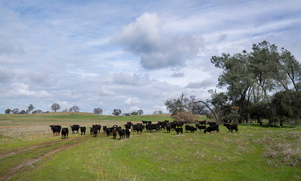
[{"label": "herd of mostly black cattle standing across the pasture", "polygon": [[[209,125],[208,127],[206,126],[206,123]],[[145,125],[144,125],[145,124]],[[124,139],[129,138],[131,131],[137,131],[137,134],[142,134],[142,130],[146,130],[146,131],[150,131],[153,132],[153,130],[157,131],[161,131],[163,130],[167,130],[168,133],[170,133],[170,130],[174,130],[177,132],[177,134],[183,134],[183,128],[182,126],[184,126],[185,122],[169,122],[167,120],[165,121],[158,121],[158,123],[156,124],[152,124],[151,121],[142,121],[142,123],[137,123],[137,124],[133,124],[132,122],[127,122],[127,124],[124,125],[124,127],[126,129],[122,129],[120,126],[114,125],[111,128],[107,128],[107,126],[103,126],[103,131],[104,133],[107,134],[107,137],[109,137],[110,135],[113,135],[113,139],[116,139],[117,133],[120,136],[120,139]],[[206,122],[206,120],[204,121],[199,121],[199,124],[195,124],[196,127],[193,127],[191,125],[185,125],[185,131],[188,133],[188,131],[191,131],[191,133],[194,133],[194,131],[197,131],[197,129],[204,129],[204,133],[209,132],[211,133],[211,131],[216,131],[217,133],[219,132],[219,125],[216,125],[216,122]],[[235,132],[238,132],[238,125],[237,124],[227,124],[225,123],[224,126],[226,128],[228,128],[229,132],[231,130],[231,132],[233,132],[233,130],[235,130]],[[51,130],[53,131],[53,136],[60,136],[61,130],[62,130],[62,139],[63,137],[68,138],[68,128],[63,128],[60,125],[51,125]],[[79,125],[72,125],[70,126],[71,130],[72,130],[72,134],[75,134],[75,131],[77,131],[76,133],[78,133],[78,130],[80,129],[81,131],[81,135],[82,133],[86,132],[86,127],[79,127]],[[100,133],[101,130],[101,125],[92,125],[92,128],[90,128],[90,134],[94,137],[97,136],[97,133]],[[55,134],[55,135],[54,135]]]}]

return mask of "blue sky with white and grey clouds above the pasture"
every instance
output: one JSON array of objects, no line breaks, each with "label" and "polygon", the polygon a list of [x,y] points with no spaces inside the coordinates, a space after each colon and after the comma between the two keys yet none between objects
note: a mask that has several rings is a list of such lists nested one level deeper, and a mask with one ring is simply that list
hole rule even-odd
[{"label": "blue sky with white and grey clouds above the pasture", "polygon": [[182,92],[206,101],[217,89],[212,56],[266,40],[300,61],[300,29],[299,0],[0,0],[0,113],[169,113]]}]

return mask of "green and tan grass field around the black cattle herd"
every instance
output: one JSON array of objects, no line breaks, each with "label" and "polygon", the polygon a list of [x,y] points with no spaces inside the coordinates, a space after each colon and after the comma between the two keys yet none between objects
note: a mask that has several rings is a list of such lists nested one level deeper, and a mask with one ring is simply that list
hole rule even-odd
[{"label": "green and tan grass field around the black cattle herd", "polygon": [[[211,134],[131,132],[123,140],[102,129],[97,137],[90,134],[92,124],[124,128],[141,120],[173,119],[170,114],[0,114],[0,180],[301,180],[301,130],[285,126],[239,125],[238,133],[222,125],[220,133]],[[86,134],[71,134],[73,124],[85,126]],[[68,138],[54,137],[49,125],[67,127]]]}]

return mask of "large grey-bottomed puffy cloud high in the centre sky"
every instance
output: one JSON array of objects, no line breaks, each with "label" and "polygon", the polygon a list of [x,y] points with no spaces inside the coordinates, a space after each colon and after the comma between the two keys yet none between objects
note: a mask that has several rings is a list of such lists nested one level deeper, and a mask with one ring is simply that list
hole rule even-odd
[{"label": "large grey-bottomed puffy cloud high in the centre sky", "polygon": [[144,69],[185,66],[185,61],[196,56],[203,47],[203,37],[166,35],[162,26],[163,20],[156,13],[144,13],[134,23],[124,26],[123,32],[115,35],[110,43],[138,53]]}]

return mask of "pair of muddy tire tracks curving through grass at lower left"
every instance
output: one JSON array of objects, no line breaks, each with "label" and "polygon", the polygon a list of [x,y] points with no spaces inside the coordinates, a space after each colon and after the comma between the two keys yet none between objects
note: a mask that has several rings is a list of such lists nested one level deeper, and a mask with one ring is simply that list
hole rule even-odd
[{"label": "pair of muddy tire tracks curving through grass at lower left", "polygon": [[[71,138],[69,140],[79,140],[79,139],[85,139],[86,137],[80,137],[80,138]],[[41,160],[42,158],[45,158],[49,155],[52,155],[58,151],[62,151],[62,150],[65,150],[65,149],[70,149],[70,148],[73,148],[74,146],[77,146],[79,144],[82,144],[82,143],[86,143],[88,141],[91,141],[91,140],[82,140],[80,142],[77,142],[77,143],[70,143],[70,145],[67,145],[67,146],[63,146],[61,148],[58,148],[58,149],[55,149],[55,150],[51,150],[51,152],[48,152],[42,156],[40,156],[39,158],[34,158],[34,159],[30,159],[30,160],[24,160],[22,163],[19,163],[17,167],[13,167],[9,170],[7,170],[4,174],[2,174],[1,178],[0,178],[0,181],[7,181],[9,179],[11,179],[14,175],[16,175],[20,170],[23,170],[25,169],[26,167],[30,166],[31,164]],[[35,147],[30,147],[30,148],[26,148],[26,149],[22,149],[18,152],[11,152],[11,153],[8,153],[8,154],[5,154],[4,156],[2,156],[1,158],[4,158],[6,156],[9,156],[9,155],[13,155],[13,154],[17,154],[17,153],[21,153],[23,151],[27,151],[27,150],[30,150],[30,149],[35,149],[35,148],[44,148],[46,146],[51,146],[52,143],[56,142],[57,143],[57,140],[55,141],[51,141],[50,143],[47,143],[47,144],[44,144],[44,145],[41,145],[41,146],[35,146]]]}]

